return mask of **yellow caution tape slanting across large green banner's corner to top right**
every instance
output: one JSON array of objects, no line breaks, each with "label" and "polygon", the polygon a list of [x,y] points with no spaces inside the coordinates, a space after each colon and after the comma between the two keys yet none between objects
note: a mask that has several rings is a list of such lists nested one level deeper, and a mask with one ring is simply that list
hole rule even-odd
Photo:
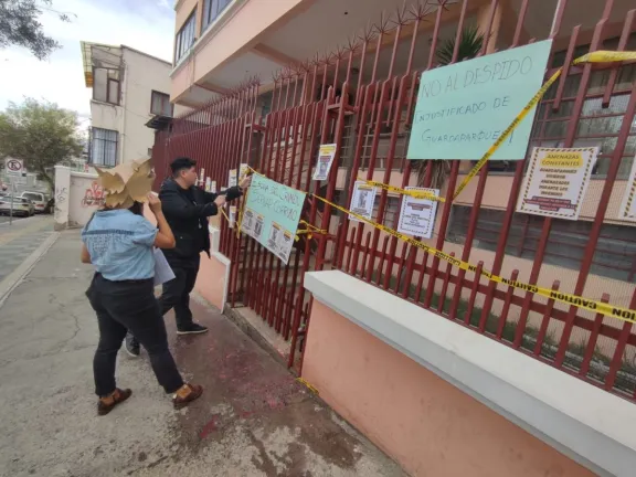
[{"label": "yellow caution tape slanting across large green banner's corner to top right", "polygon": [[[572,64],[581,64],[581,63],[611,63],[611,62],[622,62],[627,60],[636,60],[636,52],[611,52],[611,51],[596,51],[592,53],[584,54],[583,56],[577,57],[572,62]],[[455,193],[453,194],[453,200],[457,199],[457,197],[462,193],[462,191],[466,188],[468,182],[473,180],[475,176],[481,170],[481,168],[486,165],[488,159],[492,157],[492,155],[499,149],[499,146],[504,144],[506,139],[510,136],[510,134],[519,126],[519,124],[523,120],[528,113],[537,106],[537,103],[541,100],[545,92],[554,84],[554,82],[561,76],[563,73],[563,68],[559,68],[550,78],[541,86],[541,89],[537,92],[532,99],[528,102],[528,104],[521,109],[521,113],[517,115],[510,126],[506,128],[506,130],[499,136],[499,138],[495,141],[492,146],[486,151],[486,153],[479,159],[479,161],[475,165],[475,167],[468,172],[468,174],[464,178]]]}]

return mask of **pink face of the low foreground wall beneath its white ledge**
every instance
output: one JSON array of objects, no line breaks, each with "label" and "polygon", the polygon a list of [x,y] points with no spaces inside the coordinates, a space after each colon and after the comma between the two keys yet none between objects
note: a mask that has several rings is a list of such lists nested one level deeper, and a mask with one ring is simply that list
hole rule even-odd
[{"label": "pink face of the low foreground wall beneath its white ledge", "polygon": [[594,475],[317,300],[303,378],[414,476]]}]

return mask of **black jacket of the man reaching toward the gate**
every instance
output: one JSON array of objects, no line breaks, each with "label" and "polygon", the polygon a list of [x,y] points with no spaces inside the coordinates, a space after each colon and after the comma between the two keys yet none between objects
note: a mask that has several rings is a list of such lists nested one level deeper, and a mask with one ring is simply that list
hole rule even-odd
[{"label": "black jacket of the man reaching toward the gate", "polygon": [[[243,194],[237,187],[232,187],[223,193],[227,202]],[[169,262],[195,258],[201,251],[210,255],[208,218],[219,213],[219,208],[214,203],[218,195],[197,187],[182,189],[173,179],[163,181],[159,199],[163,215],[177,241],[174,248],[163,251]]]}]

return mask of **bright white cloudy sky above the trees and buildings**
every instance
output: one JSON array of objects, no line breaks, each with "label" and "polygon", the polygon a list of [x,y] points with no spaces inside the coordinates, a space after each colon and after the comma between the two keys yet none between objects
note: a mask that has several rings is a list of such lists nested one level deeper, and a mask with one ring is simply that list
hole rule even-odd
[{"label": "bright white cloudy sky above the trees and buildings", "polygon": [[39,61],[26,49],[0,50],[0,110],[25,97],[46,99],[77,112],[88,126],[91,89],[84,84],[81,41],[134,47],[171,61],[174,35],[173,0],[53,0],[67,13],[65,23],[53,12],[40,22],[62,47]]}]

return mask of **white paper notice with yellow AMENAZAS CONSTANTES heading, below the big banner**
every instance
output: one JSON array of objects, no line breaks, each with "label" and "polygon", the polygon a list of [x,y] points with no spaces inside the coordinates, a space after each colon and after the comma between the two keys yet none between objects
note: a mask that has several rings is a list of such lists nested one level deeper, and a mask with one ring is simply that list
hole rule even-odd
[{"label": "white paper notice with yellow AMENAZAS CONSTANTES heading, below the big banner", "polygon": [[517,212],[577,220],[598,148],[534,148]]}]

